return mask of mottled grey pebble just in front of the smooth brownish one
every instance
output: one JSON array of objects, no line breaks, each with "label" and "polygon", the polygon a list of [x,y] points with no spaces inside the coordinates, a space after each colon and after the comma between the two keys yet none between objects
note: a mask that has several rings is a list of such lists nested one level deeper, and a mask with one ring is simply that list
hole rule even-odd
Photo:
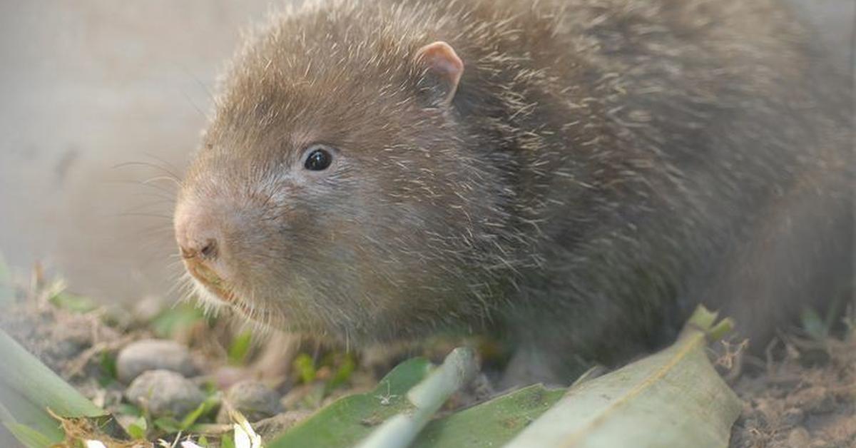
[{"label": "mottled grey pebble just in front of the smooth brownish one", "polygon": [[125,397],[155,417],[175,418],[187,415],[205,401],[205,394],[193,381],[169,370],[142,373],[128,386]]}]

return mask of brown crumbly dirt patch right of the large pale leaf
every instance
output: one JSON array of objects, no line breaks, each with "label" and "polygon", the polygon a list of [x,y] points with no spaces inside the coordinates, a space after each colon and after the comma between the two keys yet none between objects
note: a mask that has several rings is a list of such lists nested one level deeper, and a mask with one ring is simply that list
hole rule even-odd
[{"label": "brown crumbly dirt patch right of the large pale leaf", "polygon": [[[856,446],[856,337],[782,335],[734,383],[743,414],[733,447]],[[776,355],[772,355],[776,353]]]}]

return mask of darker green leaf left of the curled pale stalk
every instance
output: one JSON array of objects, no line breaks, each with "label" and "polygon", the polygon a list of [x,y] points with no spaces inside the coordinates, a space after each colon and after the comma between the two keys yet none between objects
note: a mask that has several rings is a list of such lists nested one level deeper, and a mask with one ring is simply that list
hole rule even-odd
[{"label": "darker green leaf left of the curled pale stalk", "polygon": [[354,445],[389,416],[410,408],[404,395],[430,371],[431,362],[425,359],[404,361],[383,377],[374,391],[336,400],[266,446],[324,448]]}]

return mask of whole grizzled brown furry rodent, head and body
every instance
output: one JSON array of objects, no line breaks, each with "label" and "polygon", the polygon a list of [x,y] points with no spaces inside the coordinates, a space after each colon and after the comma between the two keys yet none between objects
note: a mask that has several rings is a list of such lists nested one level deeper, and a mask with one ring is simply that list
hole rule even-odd
[{"label": "whole grizzled brown furry rodent, head and body", "polygon": [[[449,103],[414,60],[436,41]],[[614,361],[698,302],[763,337],[851,260],[830,70],[773,0],[306,6],[236,58],[176,235],[217,241],[186,254],[205,294],[348,343],[457,327]]]}]

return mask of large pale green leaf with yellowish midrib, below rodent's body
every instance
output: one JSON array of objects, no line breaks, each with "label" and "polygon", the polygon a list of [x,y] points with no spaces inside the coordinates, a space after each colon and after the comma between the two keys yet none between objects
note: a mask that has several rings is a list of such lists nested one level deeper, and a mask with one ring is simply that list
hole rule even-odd
[{"label": "large pale green leaf with yellowish midrib, below rodent's body", "polygon": [[667,349],[571,387],[508,448],[728,446],[740,399],[705,353],[722,326],[699,308]]}]

